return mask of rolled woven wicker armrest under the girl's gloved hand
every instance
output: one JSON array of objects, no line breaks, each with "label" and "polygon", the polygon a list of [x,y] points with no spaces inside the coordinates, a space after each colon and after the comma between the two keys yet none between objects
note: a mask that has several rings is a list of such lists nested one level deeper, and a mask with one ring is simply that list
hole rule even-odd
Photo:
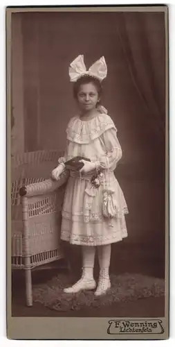
[{"label": "rolled woven wicker armrest under the girl's gloved hand", "polygon": [[19,189],[20,196],[35,196],[35,195],[43,195],[46,193],[54,192],[57,188],[61,187],[68,180],[69,172],[64,171],[60,176],[59,180],[53,180],[52,178],[48,178],[48,180],[44,180],[39,183],[33,183],[31,185],[25,185]]}]

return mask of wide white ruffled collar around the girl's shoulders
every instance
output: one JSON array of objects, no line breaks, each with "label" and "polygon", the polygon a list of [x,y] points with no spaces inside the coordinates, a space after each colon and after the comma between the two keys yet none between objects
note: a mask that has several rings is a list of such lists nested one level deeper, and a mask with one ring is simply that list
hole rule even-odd
[{"label": "wide white ruffled collar around the girl's shoulders", "polygon": [[111,117],[105,113],[100,113],[93,119],[86,121],[82,121],[79,116],[75,116],[69,121],[66,129],[67,139],[77,144],[89,144],[110,128],[116,129],[116,126]]}]

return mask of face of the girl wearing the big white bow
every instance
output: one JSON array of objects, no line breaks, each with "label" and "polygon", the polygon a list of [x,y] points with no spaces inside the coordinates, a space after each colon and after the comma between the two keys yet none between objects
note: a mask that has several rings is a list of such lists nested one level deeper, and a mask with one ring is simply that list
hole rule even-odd
[{"label": "face of the girl wearing the big white bow", "polygon": [[80,110],[91,111],[95,109],[98,101],[100,101],[98,90],[93,83],[80,85],[77,93],[77,102]]}]

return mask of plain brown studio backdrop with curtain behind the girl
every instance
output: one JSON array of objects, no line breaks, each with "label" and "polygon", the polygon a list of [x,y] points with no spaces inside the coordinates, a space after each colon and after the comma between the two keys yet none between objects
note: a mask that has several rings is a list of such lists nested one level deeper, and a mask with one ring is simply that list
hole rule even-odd
[{"label": "plain brown studio backdrop with curtain behind the girl", "polygon": [[164,276],[164,21],[161,12],[12,14],[12,154],[64,150],[77,112],[68,66],[79,54],[87,68],[104,56],[102,105],[118,129],[116,177],[129,208],[129,237],[113,245],[111,266],[155,276]]}]

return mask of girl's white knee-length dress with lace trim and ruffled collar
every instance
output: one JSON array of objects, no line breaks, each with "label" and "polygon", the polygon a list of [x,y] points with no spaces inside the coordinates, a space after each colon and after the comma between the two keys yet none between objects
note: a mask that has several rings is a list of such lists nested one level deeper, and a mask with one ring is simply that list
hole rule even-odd
[{"label": "girl's white knee-length dress with lace trim and ruffled collar", "polygon": [[[91,159],[91,162],[98,162],[103,175],[100,187],[95,188],[91,184],[94,173],[80,175],[80,172],[70,172],[62,208],[61,239],[86,246],[118,242],[127,237],[125,214],[128,209],[122,189],[113,174],[122,157],[116,126],[106,114],[99,114],[88,121],[75,116],[69,121],[66,133],[66,151],[59,162],[80,155]],[[102,214],[102,192],[107,186],[114,189],[119,210],[118,217],[113,218],[112,223]]]}]

